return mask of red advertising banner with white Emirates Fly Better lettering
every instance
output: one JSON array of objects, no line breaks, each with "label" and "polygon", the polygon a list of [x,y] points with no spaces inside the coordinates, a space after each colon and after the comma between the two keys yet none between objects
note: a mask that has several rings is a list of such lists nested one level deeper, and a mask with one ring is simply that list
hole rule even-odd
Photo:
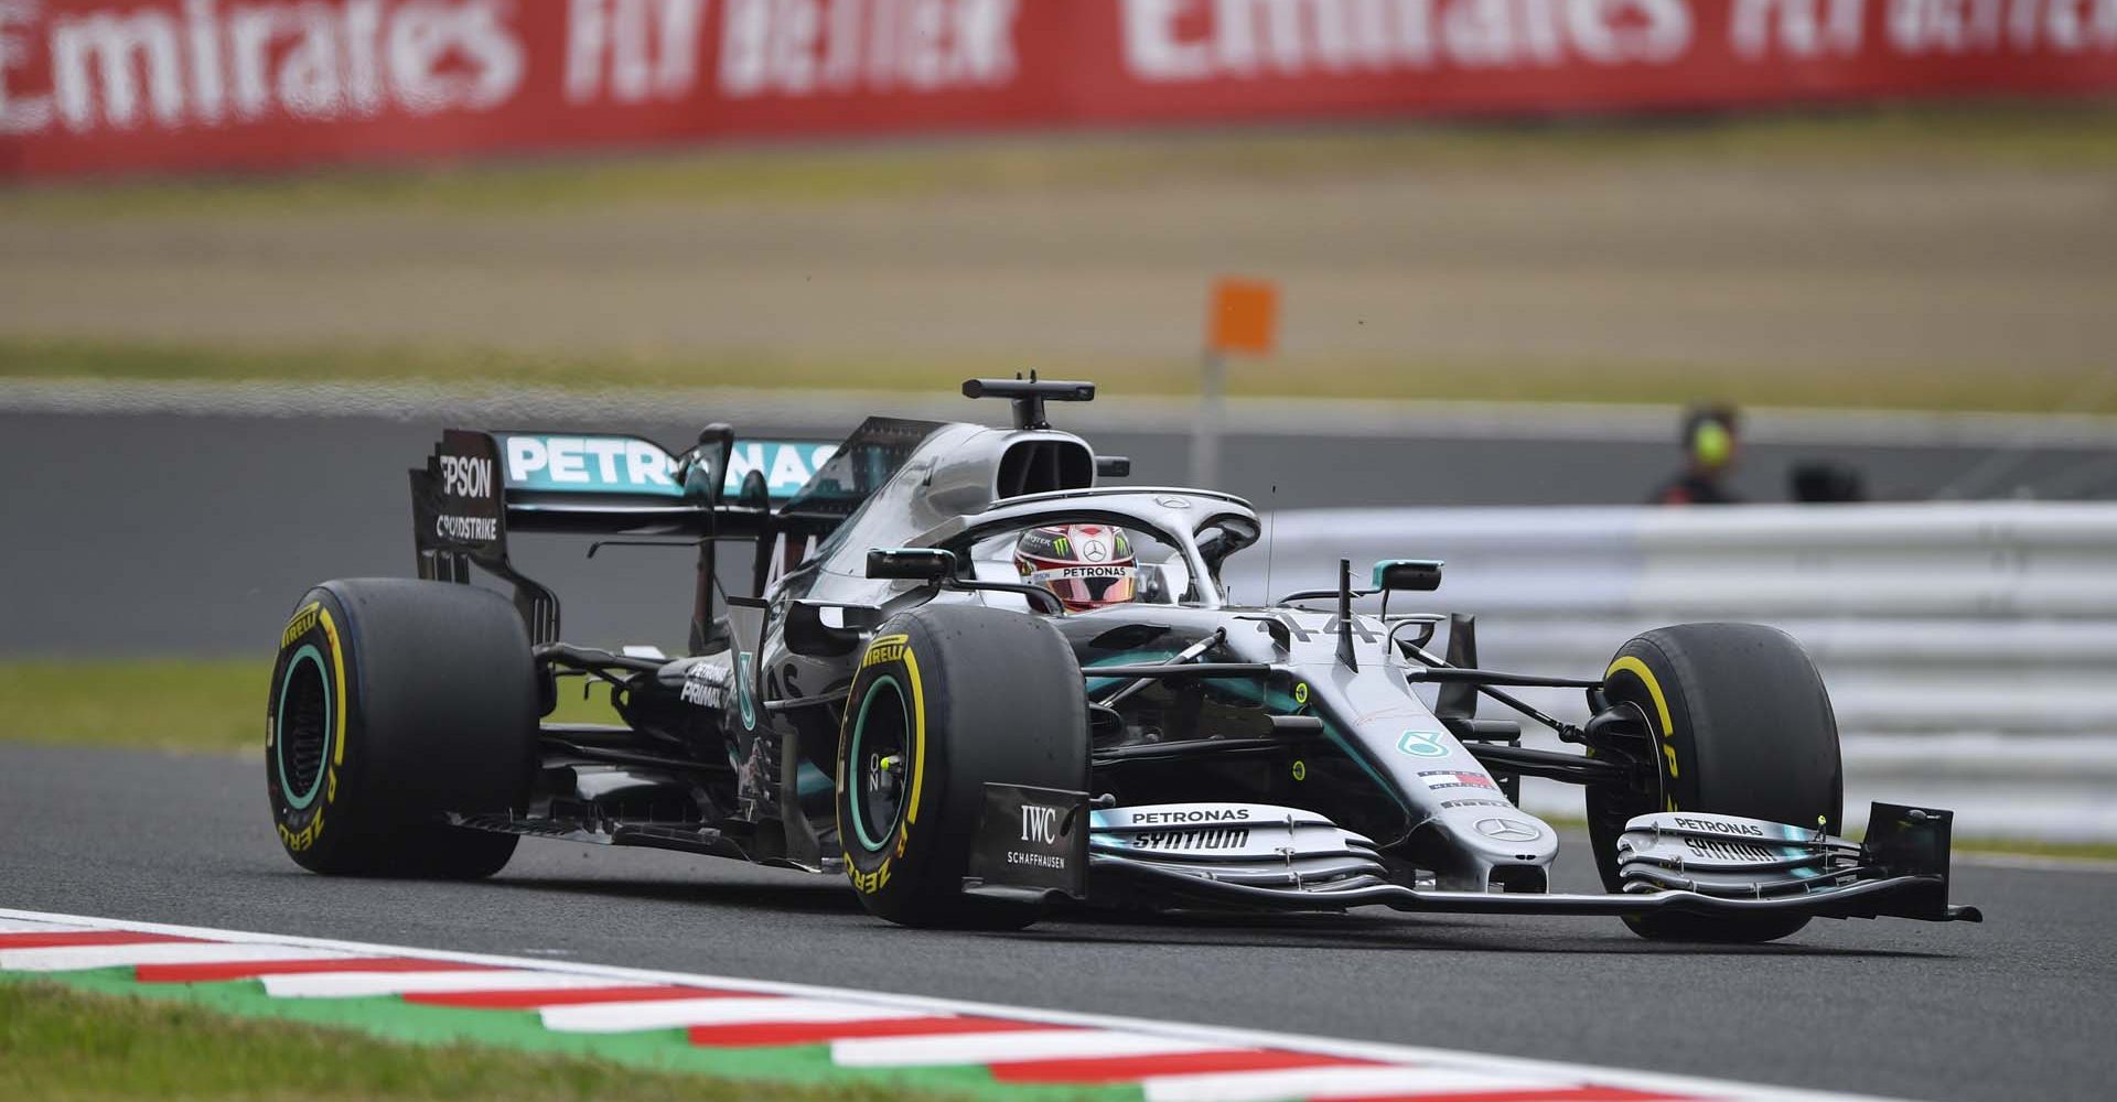
[{"label": "red advertising banner with white Emirates Fly Better lettering", "polygon": [[2117,89],[2117,0],[0,0],[0,178]]}]

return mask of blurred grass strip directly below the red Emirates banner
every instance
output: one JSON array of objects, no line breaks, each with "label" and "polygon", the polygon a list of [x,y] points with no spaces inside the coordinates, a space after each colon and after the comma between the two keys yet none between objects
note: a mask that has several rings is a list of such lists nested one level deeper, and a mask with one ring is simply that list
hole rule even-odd
[{"label": "blurred grass strip directly below the red Emirates banner", "polygon": [[743,144],[705,152],[15,188],[0,190],[0,218],[830,203],[1228,176],[1302,180],[1340,176],[1346,169],[1562,171],[1655,161],[1770,167],[2117,167],[2117,106],[1929,104],[1649,121],[1385,123],[1293,131],[1171,129],[879,144]]}]

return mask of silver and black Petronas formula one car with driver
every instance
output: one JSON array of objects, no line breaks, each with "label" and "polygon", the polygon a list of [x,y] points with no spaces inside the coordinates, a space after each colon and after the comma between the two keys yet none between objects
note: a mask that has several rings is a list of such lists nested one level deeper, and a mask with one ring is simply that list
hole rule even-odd
[{"label": "silver and black Petronas formula one car with driver", "polygon": [[[1835,835],[1838,728],[1787,635],[1683,624],[1592,679],[1486,671],[1469,618],[1389,609],[1440,584],[1421,558],[1234,607],[1249,503],[1103,486],[1128,461],[1044,415],[1090,383],[963,393],[1012,400],[1014,427],[876,417],[832,448],[709,425],[677,455],[447,431],[411,472],[421,580],[326,582],[279,637],[286,852],[478,878],[523,835],[656,846],[843,874],[910,926],[1018,929],[1061,899],[1603,914],[1713,941],[1979,918],[1948,903],[1950,812],[1876,804],[1865,842]],[[521,533],[694,552],[690,654],[561,643],[557,596],[508,558]],[[732,550],[754,552],[741,592]],[[622,723],[540,721],[578,677]],[[1518,685],[1577,687],[1588,719]],[[1480,696],[1584,753],[1522,747]],[[1522,776],[1586,791],[1607,895],[1550,890],[1558,835],[1516,806]]]}]

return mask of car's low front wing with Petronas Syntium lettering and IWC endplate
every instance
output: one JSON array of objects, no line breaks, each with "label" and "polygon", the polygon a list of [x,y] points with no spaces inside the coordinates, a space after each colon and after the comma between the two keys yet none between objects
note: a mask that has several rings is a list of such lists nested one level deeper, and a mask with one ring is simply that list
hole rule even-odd
[{"label": "car's low front wing with Petronas Syntium lettering and IWC endplate", "polygon": [[[1865,842],[1734,816],[1641,816],[1626,831],[1622,893],[1467,893],[1399,882],[1365,838],[1327,819],[1253,804],[1090,808],[1086,793],[991,785],[965,888],[1196,910],[1702,916],[1806,914],[1982,922],[1948,903],[1952,812],[1876,804]],[[1050,823],[1048,833],[1025,823]],[[1730,846],[1730,829],[1768,831]],[[1749,838],[1749,833],[1740,838]],[[1744,874],[1742,869],[1751,869]]]}]

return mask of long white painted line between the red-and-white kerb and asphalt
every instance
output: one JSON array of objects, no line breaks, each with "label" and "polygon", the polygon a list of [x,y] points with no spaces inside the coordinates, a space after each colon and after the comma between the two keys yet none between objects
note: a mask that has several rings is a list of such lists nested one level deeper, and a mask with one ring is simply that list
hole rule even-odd
[{"label": "long white painted line between the red-and-white kerb and asphalt", "polygon": [[995,1003],[959,1003],[948,998],[925,998],[912,994],[857,992],[843,988],[821,988],[811,984],[781,984],[773,979],[741,979],[722,975],[696,975],[656,969],[622,969],[610,965],[582,965],[572,960],[527,960],[519,956],[493,956],[449,950],[417,950],[404,945],[381,945],[370,941],[339,941],[328,937],[290,937],[250,931],[222,931],[205,926],[176,926],[167,922],[135,922],[123,918],[91,918],[76,914],[23,912],[0,907],[0,920],[55,922],[70,926],[91,926],[106,931],[165,933],[176,937],[210,937],[231,943],[258,945],[303,945],[318,950],[339,950],[354,956],[417,956],[428,960],[449,960],[459,965],[489,965],[497,969],[542,969],[565,975],[586,975],[627,986],[677,984],[716,990],[739,990],[754,994],[788,994],[798,998],[830,998],[862,1003],[870,1007],[893,1007],[919,1011],[919,1015],[970,1015],[1008,1017],[1016,1022],[1044,1022],[1050,1026],[1075,1026],[1090,1030],[1145,1032],[1198,1041],[1207,1047],[1230,1049],[1287,1049],[1321,1055],[1344,1055],[1351,1060],[1374,1060],[1387,1064],[1418,1064],[1423,1068],[1459,1070],[1473,1075],[1524,1077],[1562,1083],[1596,1083],[1636,1091],[1691,1094],[1704,1098],[1738,1098],[1757,1102],[1878,1102],[1874,1096],[1808,1091],[1795,1087],[1768,1087],[1755,1083],[1732,1083],[1725,1079],[1700,1079],[1687,1075],[1662,1075],[1622,1070],[1594,1064],[1573,1064],[1562,1060],[1526,1060],[1514,1055],[1484,1055],[1454,1049],[1431,1049],[1423,1045],[1382,1045],[1372,1041],[1338,1041],[1327,1036],[1304,1036],[1272,1030],[1241,1030],[1226,1026],[1186,1026],[1162,1020],[1118,1017],[1073,1011],[1046,1011],[1035,1007],[1006,1007]]}]

